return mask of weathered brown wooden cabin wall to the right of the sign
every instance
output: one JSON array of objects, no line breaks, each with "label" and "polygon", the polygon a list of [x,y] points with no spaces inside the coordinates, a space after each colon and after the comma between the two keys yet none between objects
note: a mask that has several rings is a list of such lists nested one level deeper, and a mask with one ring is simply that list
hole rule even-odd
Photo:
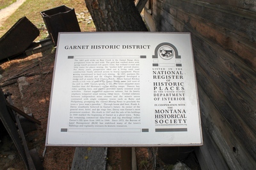
[{"label": "weathered brown wooden cabin wall to the right of the sign", "polygon": [[191,32],[202,169],[256,168],[256,1],[148,0],[150,31]]}]

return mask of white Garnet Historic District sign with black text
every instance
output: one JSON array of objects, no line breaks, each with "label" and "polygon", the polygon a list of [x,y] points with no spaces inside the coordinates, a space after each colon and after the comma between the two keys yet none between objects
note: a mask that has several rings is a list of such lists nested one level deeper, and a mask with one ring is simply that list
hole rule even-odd
[{"label": "white Garnet Historic District sign with black text", "polygon": [[60,33],[46,145],[202,145],[190,34]]}]

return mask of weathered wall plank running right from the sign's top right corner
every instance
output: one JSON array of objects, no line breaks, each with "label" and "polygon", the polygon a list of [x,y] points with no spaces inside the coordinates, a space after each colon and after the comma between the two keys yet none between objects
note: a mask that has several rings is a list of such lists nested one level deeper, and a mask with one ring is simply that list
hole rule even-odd
[{"label": "weathered wall plank running right from the sign's top right corner", "polygon": [[[193,33],[191,37],[193,47],[197,47],[200,51],[204,52],[204,56],[201,59],[212,62],[220,70],[221,74],[234,80],[234,85],[241,87],[249,96],[255,98],[255,71],[250,69],[250,67],[246,67],[246,64],[236,59],[234,55],[221,50],[220,46],[208,43],[207,39],[202,38],[198,34],[195,35]],[[194,51],[196,52],[196,49]]]}]

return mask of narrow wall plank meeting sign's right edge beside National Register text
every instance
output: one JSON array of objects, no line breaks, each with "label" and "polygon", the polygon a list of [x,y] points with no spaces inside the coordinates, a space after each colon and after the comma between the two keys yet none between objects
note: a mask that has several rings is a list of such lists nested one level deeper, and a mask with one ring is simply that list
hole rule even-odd
[{"label": "narrow wall plank meeting sign's right edge beside National Register text", "polygon": [[204,73],[204,70],[197,64],[196,79],[198,84],[204,89],[205,94],[209,96],[212,103],[214,103],[215,106],[218,106],[218,110],[221,112],[221,115],[223,115],[223,118],[225,118],[225,121],[227,121],[226,123],[231,125],[232,131],[234,131],[237,138],[243,142],[248,153],[250,153],[253,159],[256,160],[255,133],[252,132],[252,129],[248,127],[246,122],[239,117],[236,110],[232,108],[232,104],[226,100],[221,90],[216,87],[214,81],[211,81],[211,78],[209,78],[207,74]]}]

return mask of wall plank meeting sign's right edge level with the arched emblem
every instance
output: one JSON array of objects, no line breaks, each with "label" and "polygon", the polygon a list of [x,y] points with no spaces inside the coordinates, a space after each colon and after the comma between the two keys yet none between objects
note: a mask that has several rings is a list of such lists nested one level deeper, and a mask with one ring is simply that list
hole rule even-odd
[{"label": "wall plank meeting sign's right edge level with the arched emblem", "polygon": [[230,78],[223,74],[220,65],[218,68],[214,67],[217,65],[212,64],[210,60],[205,60],[205,55],[203,53],[200,54],[200,50],[197,49],[196,51],[194,48],[194,51],[196,53],[196,62],[203,67],[204,71],[207,73],[207,76],[216,83],[219,89],[225,89],[223,90],[223,94],[227,100],[232,103],[232,107],[237,111],[237,113],[239,113],[239,116],[243,118],[246,124],[248,124],[252,130],[254,129],[254,131],[256,131],[255,98],[246,94],[246,92],[243,90],[244,88],[241,88],[235,83],[236,80],[234,81],[232,80],[232,77]]}]

